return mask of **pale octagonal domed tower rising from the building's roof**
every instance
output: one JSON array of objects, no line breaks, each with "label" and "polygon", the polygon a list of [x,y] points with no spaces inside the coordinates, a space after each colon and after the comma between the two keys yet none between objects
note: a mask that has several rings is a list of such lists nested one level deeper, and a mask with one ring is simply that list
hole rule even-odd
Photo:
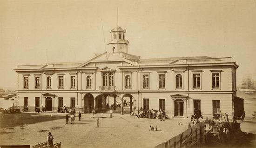
[{"label": "pale octagonal domed tower rising from the building's roof", "polygon": [[112,50],[115,53],[123,52],[128,53],[128,44],[129,41],[125,40],[125,32],[121,27],[117,26],[114,29],[110,30],[111,40],[108,42],[108,45],[112,46]]}]

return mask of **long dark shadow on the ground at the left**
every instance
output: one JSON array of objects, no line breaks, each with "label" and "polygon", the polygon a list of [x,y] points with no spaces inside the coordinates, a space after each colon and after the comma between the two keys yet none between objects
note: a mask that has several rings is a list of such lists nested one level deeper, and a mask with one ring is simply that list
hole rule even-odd
[{"label": "long dark shadow on the ground at the left", "polygon": [[33,124],[37,122],[54,121],[64,119],[65,116],[60,115],[41,115],[20,113],[20,114],[0,114],[0,128],[9,128],[25,124]]}]

